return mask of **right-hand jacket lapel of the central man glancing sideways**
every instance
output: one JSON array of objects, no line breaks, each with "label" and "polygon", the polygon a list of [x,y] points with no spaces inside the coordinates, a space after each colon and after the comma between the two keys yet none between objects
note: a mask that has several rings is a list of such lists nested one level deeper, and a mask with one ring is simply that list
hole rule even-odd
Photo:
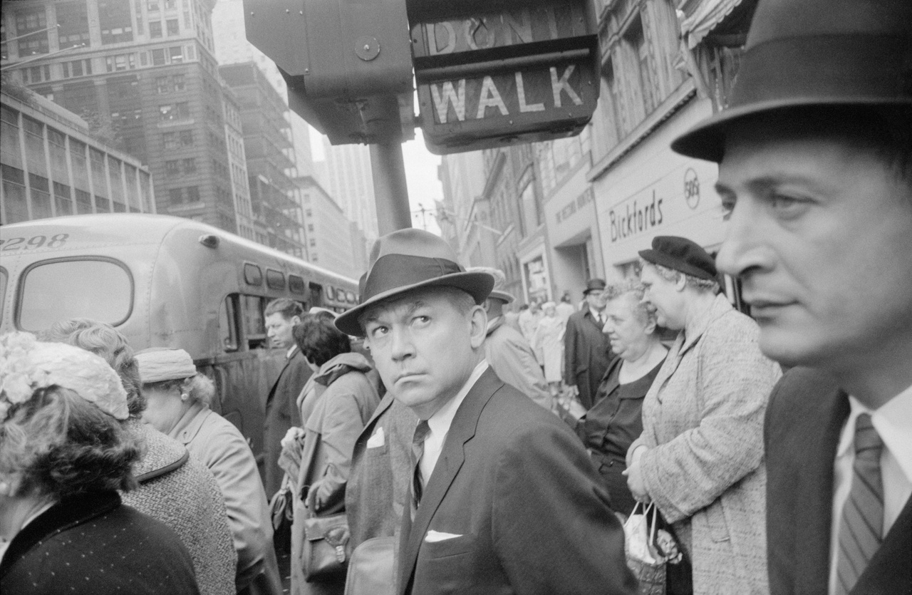
[{"label": "right-hand jacket lapel of the central man glancing sideways", "polygon": [[[440,458],[437,460],[433,474],[430,475],[424,495],[421,496],[421,504],[415,515],[414,523],[411,522],[408,513],[402,515],[402,534],[399,545],[399,569],[401,569],[399,590],[401,593],[407,593],[409,590],[409,583],[418,561],[421,541],[428,532],[430,519],[437,512],[443,497],[446,496],[465,461],[465,444],[475,435],[475,428],[478,426],[482,409],[493,393],[502,386],[503,381],[497,378],[490,367],[475,382],[453,417],[450,431],[447,433],[443,449],[440,451]],[[409,495],[410,493],[409,490]]]}]

